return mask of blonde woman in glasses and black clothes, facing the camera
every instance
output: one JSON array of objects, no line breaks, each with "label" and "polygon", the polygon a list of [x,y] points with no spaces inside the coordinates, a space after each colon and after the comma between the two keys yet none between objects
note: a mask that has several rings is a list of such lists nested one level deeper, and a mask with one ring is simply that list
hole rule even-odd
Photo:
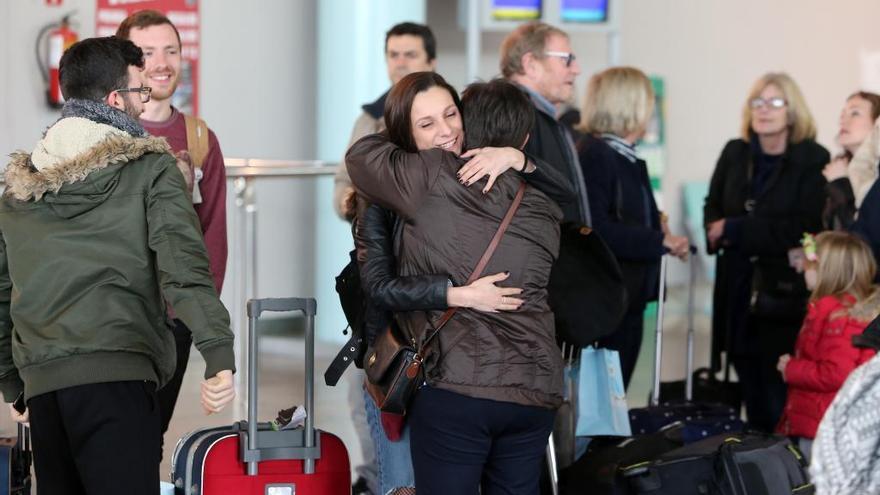
[{"label": "blonde woman in glasses and black clothes, facing the camera", "polygon": [[776,363],[790,353],[809,292],[789,262],[803,232],[822,228],[828,151],[797,84],[760,77],[745,100],[739,139],[721,152],[704,219],[717,254],[712,367],[726,351],[743,388],[748,420],[770,432],[785,404]]}]

